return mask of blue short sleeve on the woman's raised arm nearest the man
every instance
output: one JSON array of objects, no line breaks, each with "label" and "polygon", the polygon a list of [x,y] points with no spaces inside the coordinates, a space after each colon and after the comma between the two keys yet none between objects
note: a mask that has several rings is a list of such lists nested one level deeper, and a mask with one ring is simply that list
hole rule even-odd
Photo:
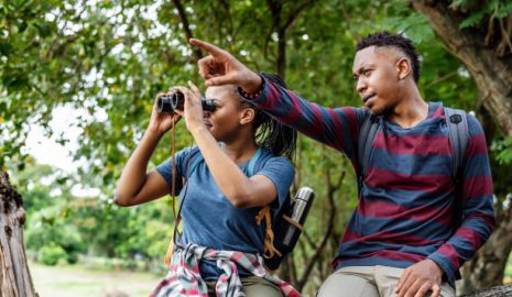
[{"label": "blue short sleeve on the woman's raised arm nearest the man", "polygon": [[[295,175],[295,169],[290,160],[285,157],[272,157],[265,162],[255,175],[266,176],[274,184],[277,191],[279,208],[281,208],[288,198],[290,187]],[[273,205],[271,204],[271,206]]]}]

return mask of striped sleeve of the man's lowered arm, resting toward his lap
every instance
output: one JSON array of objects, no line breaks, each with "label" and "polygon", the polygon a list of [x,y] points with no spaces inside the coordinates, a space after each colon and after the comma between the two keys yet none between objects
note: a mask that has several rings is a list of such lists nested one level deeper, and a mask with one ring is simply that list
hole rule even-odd
[{"label": "striped sleeve of the man's lowered arm, resting toward his lap", "polygon": [[489,239],[494,229],[493,187],[486,136],[478,120],[468,114],[469,141],[462,174],[462,222],[454,235],[428,257],[448,279]]}]

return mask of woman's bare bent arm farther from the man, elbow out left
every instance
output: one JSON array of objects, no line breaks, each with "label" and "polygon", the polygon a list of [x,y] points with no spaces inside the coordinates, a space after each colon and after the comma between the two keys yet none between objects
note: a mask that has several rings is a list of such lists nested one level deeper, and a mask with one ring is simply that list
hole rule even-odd
[{"label": "woman's bare bent arm farther from the man, elbow out left", "polygon": [[128,160],[115,194],[118,206],[134,206],[144,204],[168,194],[170,188],[165,179],[156,172],[148,170],[148,163],[160,139],[176,123],[181,116],[160,113],[156,109],[157,98],[153,106],[150,124],[141,142]]}]

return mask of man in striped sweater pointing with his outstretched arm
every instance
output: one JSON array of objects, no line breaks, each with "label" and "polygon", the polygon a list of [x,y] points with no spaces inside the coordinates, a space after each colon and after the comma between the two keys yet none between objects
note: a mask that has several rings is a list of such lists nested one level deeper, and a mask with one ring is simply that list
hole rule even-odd
[{"label": "man in striped sweater pointing with his outstretched arm", "polygon": [[[346,154],[360,176],[361,124],[368,117],[379,122],[367,144],[371,153],[359,202],[333,261],[335,273],[318,296],[455,296],[456,272],[494,227],[487,145],[481,125],[468,116],[456,189],[443,103],[422,98],[410,40],[382,32],[360,41],[352,70],[363,107],[336,109],[275,86],[211,44],[190,43],[210,54],[198,63],[207,86],[239,86],[275,119]],[[457,202],[464,217],[455,227]]]}]

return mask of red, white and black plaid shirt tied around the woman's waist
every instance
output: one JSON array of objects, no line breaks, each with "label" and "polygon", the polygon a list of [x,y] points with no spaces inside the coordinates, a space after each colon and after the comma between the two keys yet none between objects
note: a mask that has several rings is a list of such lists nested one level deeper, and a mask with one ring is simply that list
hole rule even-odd
[{"label": "red, white and black plaid shirt tied around the woman's waist", "polygon": [[249,271],[251,274],[277,285],[281,288],[283,296],[301,296],[301,294],[295,290],[291,284],[271,275],[263,266],[263,258],[258,254],[254,255],[235,251],[216,251],[189,243],[184,249],[178,249],[176,246],[167,276],[159,284],[153,294],[151,294],[151,297],[208,297],[208,288],[199,273],[200,260],[215,260],[217,262],[217,267],[224,271],[224,274],[217,279],[216,285],[216,293],[219,297],[246,296],[237,271],[237,264]]}]

